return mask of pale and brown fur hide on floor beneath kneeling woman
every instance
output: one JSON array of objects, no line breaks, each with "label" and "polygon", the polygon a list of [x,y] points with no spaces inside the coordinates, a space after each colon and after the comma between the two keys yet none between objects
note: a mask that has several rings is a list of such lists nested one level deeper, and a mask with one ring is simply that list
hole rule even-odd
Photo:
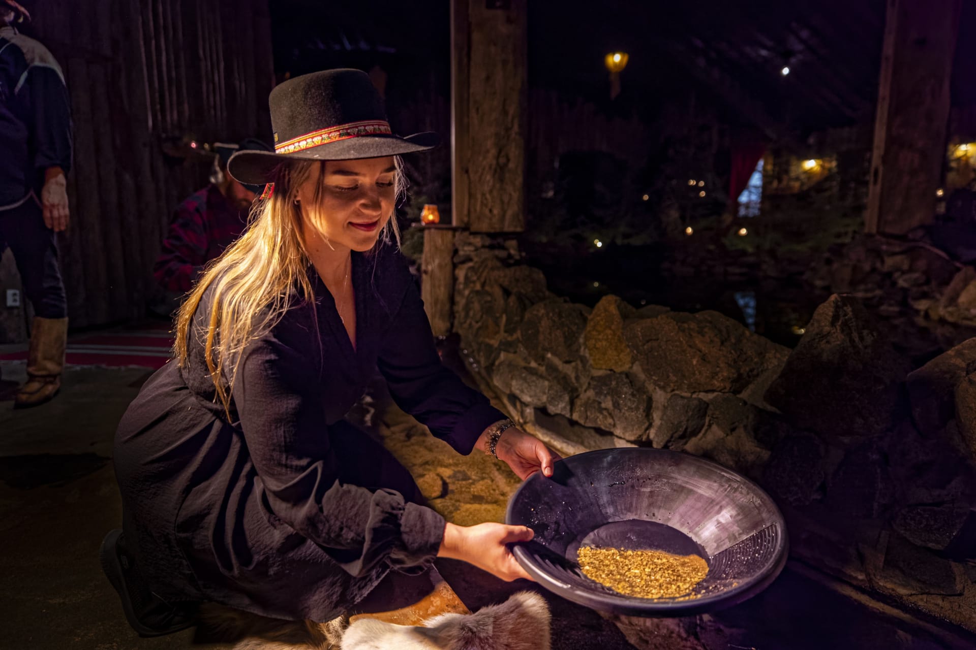
[{"label": "pale and brown fur hide on floor beneath kneeling woman", "polygon": [[236,641],[234,650],[549,650],[549,605],[538,593],[515,593],[473,614],[442,614],[424,627],[376,619],[348,625],[285,622],[208,605],[201,625]]}]

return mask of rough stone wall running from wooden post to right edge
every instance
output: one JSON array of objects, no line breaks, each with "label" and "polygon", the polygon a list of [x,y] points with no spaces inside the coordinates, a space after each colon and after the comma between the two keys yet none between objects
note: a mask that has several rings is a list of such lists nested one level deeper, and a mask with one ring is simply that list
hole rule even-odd
[{"label": "rough stone wall running from wooden post to right edge", "polygon": [[791,351],[716,312],[570,303],[511,242],[461,233],[455,261],[468,369],[526,431],[734,468],[795,556],[976,630],[976,339],[914,369],[834,294]]}]

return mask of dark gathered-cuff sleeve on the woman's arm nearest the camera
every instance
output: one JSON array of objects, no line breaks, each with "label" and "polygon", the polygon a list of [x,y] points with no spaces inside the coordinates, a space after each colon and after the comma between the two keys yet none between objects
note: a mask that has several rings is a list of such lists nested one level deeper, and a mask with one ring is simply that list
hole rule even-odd
[{"label": "dark gathered-cuff sleeve on the woman's arm nearest the camera", "polygon": [[313,365],[273,335],[240,363],[234,402],[271,511],[353,576],[384,561],[424,564],[440,547],[443,517],[393,490],[340,482]]}]

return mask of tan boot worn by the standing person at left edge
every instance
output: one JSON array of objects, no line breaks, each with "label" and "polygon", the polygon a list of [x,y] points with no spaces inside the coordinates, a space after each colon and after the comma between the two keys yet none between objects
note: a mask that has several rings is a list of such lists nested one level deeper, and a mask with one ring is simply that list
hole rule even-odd
[{"label": "tan boot worn by the standing person at left edge", "polygon": [[14,398],[14,408],[27,408],[50,401],[61,389],[67,319],[34,317],[27,354],[27,383]]}]

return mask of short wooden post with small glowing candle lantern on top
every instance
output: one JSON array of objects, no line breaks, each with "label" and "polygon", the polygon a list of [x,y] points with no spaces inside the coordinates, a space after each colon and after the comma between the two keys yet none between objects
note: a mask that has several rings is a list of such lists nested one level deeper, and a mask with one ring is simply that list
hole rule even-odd
[{"label": "short wooden post with small glowing candle lantern on top", "polygon": [[454,234],[452,226],[421,226],[424,257],[421,260],[421,297],[434,336],[451,333],[454,299]]}]

